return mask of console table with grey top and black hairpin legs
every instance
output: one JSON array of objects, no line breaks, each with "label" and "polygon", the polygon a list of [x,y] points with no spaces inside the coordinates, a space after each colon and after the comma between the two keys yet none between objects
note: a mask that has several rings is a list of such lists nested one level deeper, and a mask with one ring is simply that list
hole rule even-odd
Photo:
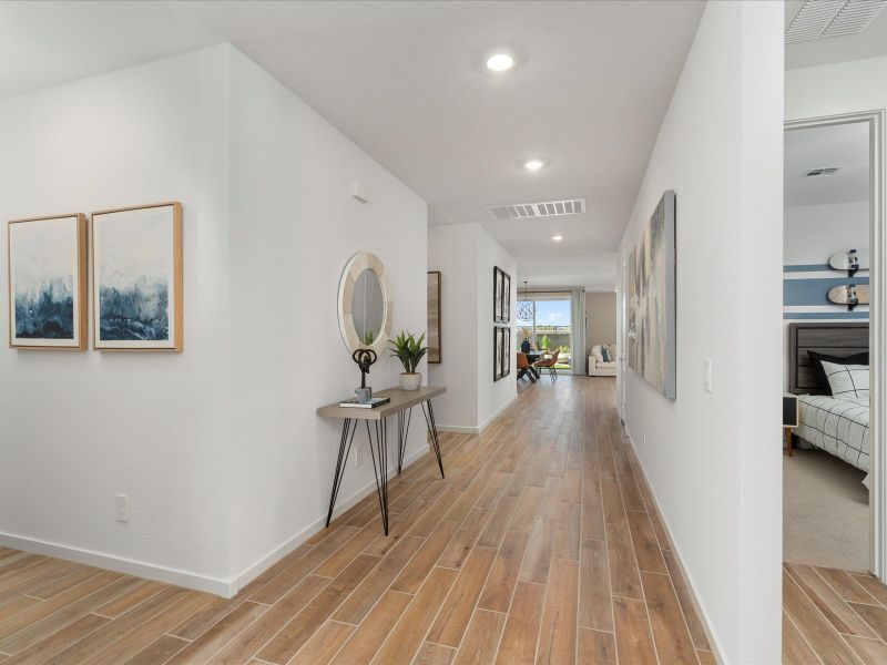
[{"label": "console table with grey top and black hairpin legs", "polygon": [[[443,461],[440,458],[440,442],[437,437],[437,424],[435,423],[435,409],[431,399],[443,395],[447,391],[441,386],[422,386],[418,390],[401,390],[391,388],[380,392],[374,392],[373,397],[388,397],[390,401],[375,409],[361,409],[357,407],[340,407],[339,402],[320,407],[317,415],[325,418],[339,418],[343,420],[341,437],[339,438],[339,456],[336,461],[336,474],[333,477],[333,492],[329,497],[329,512],[326,515],[326,525],[333,519],[333,509],[336,507],[336,498],[339,493],[341,479],[345,475],[345,464],[348,462],[348,454],[351,451],[354,436],[357,432],[359,421],[363,420],[367,428],[367,439],[369,440],[369,453],[373,457],[373,473],[376,475],[376,491],[379,497],[379,510],[381,511],[381,525],[385,535],[388,535],[388,417],[397,415],[397,472],[400,473],[404,467],[404,451],[407,446],[407,434],[409,424],[412,420],[412,407],[420,405],[425,421],[428,426],[428,433],[431,438],[431,446],[437,456],[437,463],[440,467],[440,477],[443,478]],[[370,427],[370,422],[373,427]],[[375,441],[374,441],[375,432]],[[377,460],[378,458],[378,460]]]}]

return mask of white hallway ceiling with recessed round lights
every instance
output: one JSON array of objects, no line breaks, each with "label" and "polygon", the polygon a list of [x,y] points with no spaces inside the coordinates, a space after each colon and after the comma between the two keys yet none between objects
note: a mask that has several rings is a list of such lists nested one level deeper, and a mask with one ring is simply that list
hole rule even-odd
[{"label": "white hallway ceiling with recessed round lights", "polygon": [[[431,223],[480,223],[531,284],[606,288],[703,8],[8,2],[0,96],[230,41],[426,198]],[[500,44],[519,66],[489,74],[483,53]],[[526,172],[528,156],[549,165]],[[588,212],[497,222],[486,211],[567,197],[584,197]]]}]

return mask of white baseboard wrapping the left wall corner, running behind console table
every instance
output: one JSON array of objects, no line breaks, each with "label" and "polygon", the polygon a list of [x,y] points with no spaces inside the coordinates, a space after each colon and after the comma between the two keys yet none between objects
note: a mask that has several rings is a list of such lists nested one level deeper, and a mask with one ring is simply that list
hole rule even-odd
[{"label": "white baseboard wrapping the left wall corner, running behind console table", "polygon": [[[430,450],[426,447],[420,447],[404,458],[404,468],[406,469],[425,454],[429,454]],[[397,464],[394,464],[389,478],[397,475]],[[348,499],[337,501],[336,510],[333,513],[334,519],[350,509],[353,505],[364,500],[370,493],[376,491],[376,481],[367,483],[361,489],[357,490]],[[247,566],[243,572],[232,575],[231,577],[213,577],[195,573],[193,571],[182,571],[179,569],[156,565],[144,561],[136,561],[134,559],[126,559],[123,556],[115,556],[113,554],[103,554],[91,550],[83,550],[71,545],[63,545],[60,543],[52,543],[33,538],[16,535],[12,533],[0,532],[0,545],[21,550],[22,552],[31,552],[32,554],[42,554],[44,556],[54,556],[57,559],[64,559],[67,561],[74,561],[94,567],[115,571],[126,575],[136,577],[144,577],[146,580],[156,580],[157,582],[165,582],[166,584],[174,584],[175,586],[184,586],[186,589],[194,589],[196,591],[205,591],[225,598],[231,598],[237,595],[237,592],[246,586],[249,582],[258,577],[262,573],[268,570],[272,565],[277,563],[281,559],[289,554],[293,550],[298,548],[302,543],[326,528],[326,515],[308,524],[305,529],[299,531],[296,535],[288,538],[286,541],[274,548],[265,556]]]}]

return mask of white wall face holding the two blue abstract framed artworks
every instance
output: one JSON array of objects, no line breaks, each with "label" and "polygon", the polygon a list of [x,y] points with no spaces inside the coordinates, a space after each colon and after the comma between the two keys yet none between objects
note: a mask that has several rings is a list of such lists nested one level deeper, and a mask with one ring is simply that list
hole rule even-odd
[{"label": "white wall face holding the two blue abstract framed artworks", "polygon": [[226,72],[212,49],[0,101],[0,218],[181,201],[185,307],[182,355],[0,350],[0,542],[228,573]]}]

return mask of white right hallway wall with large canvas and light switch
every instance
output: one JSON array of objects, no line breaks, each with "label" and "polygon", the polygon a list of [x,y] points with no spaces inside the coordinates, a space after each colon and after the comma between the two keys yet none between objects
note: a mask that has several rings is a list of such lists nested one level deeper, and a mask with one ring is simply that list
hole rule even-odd
[{"label": "white right hallway wall with large canvas and light switch", "polygon": [[676,191],[677,398],[626,370],[624,417],[730,663],[781,659],[782,62],[781,3],[707,4],[622,242]]}]

